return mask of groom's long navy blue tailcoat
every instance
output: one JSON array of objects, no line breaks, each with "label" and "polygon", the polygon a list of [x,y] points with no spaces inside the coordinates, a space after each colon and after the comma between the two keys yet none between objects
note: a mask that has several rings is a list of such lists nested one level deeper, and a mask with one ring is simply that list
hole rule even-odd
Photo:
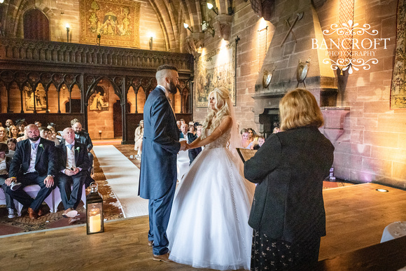
[{"label": "groom's long navy blue tailcoat", "polygon": [[144,105],[144,140],[141,154],[139,195],[156,200],[176,183],[179,129],[165,93],[155,88]]}]

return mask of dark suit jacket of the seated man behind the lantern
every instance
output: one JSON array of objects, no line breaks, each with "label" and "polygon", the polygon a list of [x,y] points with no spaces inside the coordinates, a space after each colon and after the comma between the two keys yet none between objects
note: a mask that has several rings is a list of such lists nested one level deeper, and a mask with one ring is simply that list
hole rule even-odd
[{"label": "dark suit jacket of the seated man behind the lantern", "polygon": [[[73,141],[75,146],[73,150],[75,152],[75,164],[76,167],[80,167],[82,170],[87,172],[87,169],[90,167],[89,155],[87,155],[87,147],[83,144]],[[61,172],[66,168],[66,141],[63,144],[59,144],[55,147],[58,152],[58,163],[57,171]]]}]

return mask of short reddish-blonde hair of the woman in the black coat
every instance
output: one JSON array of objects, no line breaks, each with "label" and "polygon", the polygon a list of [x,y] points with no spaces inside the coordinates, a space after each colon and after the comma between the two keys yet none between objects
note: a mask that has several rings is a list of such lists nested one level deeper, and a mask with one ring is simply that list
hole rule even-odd
[{"label": "short reddish-blonde hair of the woman in the black coat", "polygon": [[279,113],[282,131],[304,126],[321,127],[324,124],[316,98],[303,88],[286,93],[279,102]]}]

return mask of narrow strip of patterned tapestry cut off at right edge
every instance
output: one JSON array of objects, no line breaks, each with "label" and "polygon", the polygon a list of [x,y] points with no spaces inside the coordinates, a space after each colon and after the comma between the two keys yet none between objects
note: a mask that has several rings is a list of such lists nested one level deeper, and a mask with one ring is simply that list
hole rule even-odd
[{"label": "narrow strip of patterned tapestry cut off at right edge", "polygon": [[406,0],[399,0],[395,64],[391,85],[391,109],[406,108]]}]

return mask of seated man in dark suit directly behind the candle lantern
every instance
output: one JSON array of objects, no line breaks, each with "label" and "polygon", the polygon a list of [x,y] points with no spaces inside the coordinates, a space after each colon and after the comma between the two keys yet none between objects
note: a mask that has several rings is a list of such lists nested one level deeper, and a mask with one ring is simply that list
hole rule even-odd
[{"label": "seated man in dark suit directly behind the candle lantern", "polygon": [[[83,193],[83,183],[87,178],[87,169],[90,167],[87,148],[85,145],[75,142],[75,132],[67,127],[63,132],[64,144],[59,144],[58,151],[58,183],[61,191],[62,203],[64,204],[65,218],[73,218],[78,214],[76,208],[80,203]],[[71,190],[71,185],[73,186]],[[69,223],[73,220],[69,221]]]}]

